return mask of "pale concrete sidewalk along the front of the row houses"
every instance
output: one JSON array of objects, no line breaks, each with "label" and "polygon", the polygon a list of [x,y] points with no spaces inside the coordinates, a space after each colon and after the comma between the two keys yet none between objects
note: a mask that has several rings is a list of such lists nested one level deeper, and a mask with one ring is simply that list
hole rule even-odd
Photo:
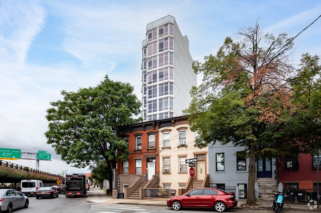
[{"label": "pale concrete sidewalk along the front of the row houses", "polygon": [[[127,204],[127,205],[145,205],[145,206],[163,206],[166,207],[167,199],[146,199],[146,200],[135,200],[135,199],[113,199],[112,196],[107,196],[103,190],[95,188],[94,190],[90,188],[86,202],[98,203],[98,204]],[[272,210],[272,202],[258,202],[257,206],[246,206],[245,201],[239,201],[236,207],[239,210]],[[307,211],[307,212],[321,212],[321,209],[314,209],[316,205],[307,203],[295,203],[288,204],[285,203],[283,210],[294,210],[294,211]],[[311,210],[311,208],[312,210]]]}]

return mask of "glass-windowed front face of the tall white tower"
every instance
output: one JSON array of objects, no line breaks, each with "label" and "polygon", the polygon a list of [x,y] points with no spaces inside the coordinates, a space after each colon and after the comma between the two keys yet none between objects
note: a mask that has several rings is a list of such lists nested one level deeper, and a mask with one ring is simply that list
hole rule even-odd
[{"label": "glass-windowed front face of the tall white tower", "polygon": [[[183,37],[179,33],[177,38],[174,33],[176,31],[174,17],[167,17],[168,19],[164,17],[147,25],[152,27],[146,30],[146,39],[142,44],[142,117],[144,121],[172,118],[181,113],[174,111],[175,75],[178,74],[174,64],[174,61],[178,60],[175,59],[177,54],[174,47],[178,45],[175,44],[176,39],[183,39]],[[187,107],[188,105],[183,108]]]}]

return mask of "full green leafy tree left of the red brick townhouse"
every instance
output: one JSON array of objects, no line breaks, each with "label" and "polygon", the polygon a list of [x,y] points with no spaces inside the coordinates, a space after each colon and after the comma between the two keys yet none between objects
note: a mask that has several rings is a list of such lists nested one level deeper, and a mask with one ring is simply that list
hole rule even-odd
[{"label": "full green leafy tree left of the red brick townhouse", "polygon": [[[140,121],[140,102],[128,83],[105,79],[96,87],[62,91],[63,100],[51,102],[46,119],[47,144],[68,164],[95,168],[105,160],[109,175],[117,160],[127,160],[128,144],[117,137],[118,127]],[[109,180],[111,183],[111,180]]]}]

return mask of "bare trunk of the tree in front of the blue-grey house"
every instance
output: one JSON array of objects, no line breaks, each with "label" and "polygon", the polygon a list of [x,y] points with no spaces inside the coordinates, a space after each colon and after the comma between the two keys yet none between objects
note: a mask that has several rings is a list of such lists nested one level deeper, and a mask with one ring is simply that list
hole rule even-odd
[{"label": "bare trunk of the tree in front of the blue-grey house", "polygon": [[247,181],[247,199],[246,204],[253,205],[255,202],[254,184],[255,184],[255,164],[257,156],[255,154],[255,145],[250,146],[250,156],[248,165],[248,181]]}]

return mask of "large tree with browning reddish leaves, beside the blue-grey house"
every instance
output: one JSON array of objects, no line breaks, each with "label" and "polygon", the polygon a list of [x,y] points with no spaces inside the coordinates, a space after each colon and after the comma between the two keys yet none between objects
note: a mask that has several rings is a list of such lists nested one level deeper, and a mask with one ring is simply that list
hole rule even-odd
[{"label": "large tree with browning reddish leaves, beside the blue-grey house", "polygon": [[[294,74],[289,63],[292,39],[262,34],[258,24],[241,29],[239,42],[230,37],[216,55],[205,62],[194,61],[203,83],[191,91],[191,129],[198,131],[198,147],[233,143],[244,147],[249,158],[247,204],[254,204],[255,163],[258,158],[276,157],[296,147],[280,145],[280,129],[291,115]],[[280,152],[279,147],[285,151]]]}]

